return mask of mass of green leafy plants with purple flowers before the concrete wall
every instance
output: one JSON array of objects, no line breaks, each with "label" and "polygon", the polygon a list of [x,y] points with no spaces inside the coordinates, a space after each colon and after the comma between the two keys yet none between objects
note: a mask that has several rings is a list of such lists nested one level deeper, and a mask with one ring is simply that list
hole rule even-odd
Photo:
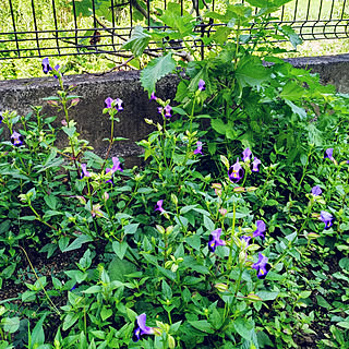
[{"label": "mass of green leafy plants with purple flowers before the concrete wall", "polygon": [[[272,35],[263,4],[207,14],[227,26],[205,60],[170,49],[143,70],[158,109],[144,167],[110,156],[128,100],[104,98],[100,158],[70,118],[83,96],[47,58],[57,117],[1,111],[0,348],[348,347],[349,96],[241,35],[251,21]],[[139,26],[125,45],[192,53],[195,19],[179,11],[159,15],[167,34]],[[157,97],[167,73],[176,100]]]}]

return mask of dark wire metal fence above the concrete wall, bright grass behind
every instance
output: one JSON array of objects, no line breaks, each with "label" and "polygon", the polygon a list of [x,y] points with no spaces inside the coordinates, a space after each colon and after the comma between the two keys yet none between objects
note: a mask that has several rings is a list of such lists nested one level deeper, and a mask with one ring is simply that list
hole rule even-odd
[{"label": "dark wire metal fence above the concrete wall, bright grass behind", "polygon": [[[196,15],[225,3],[179,1]],[[122,45],[132,28],[152,27],[154,14],[166,7],[166,0],[1,0],[0,60],[101,52],[129,57]],[[303,40],[349,37],[347,0],[293,0],[275,16],[279,20],[270,27],[288,24]],[[205,26],[202,35],[212,29]]]}]

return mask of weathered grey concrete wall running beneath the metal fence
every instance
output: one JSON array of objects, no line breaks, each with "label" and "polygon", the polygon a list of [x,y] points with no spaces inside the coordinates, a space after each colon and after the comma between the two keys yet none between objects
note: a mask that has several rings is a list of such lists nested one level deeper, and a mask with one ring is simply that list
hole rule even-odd
[{"label": "weathered grey concrete wall running beneath the metal fence", "polygon": [[[349,55],[296,58],[288,61],[297,68],[320,73],[323,83],[332,83],[339,92],[349,93]],[[81,136],[89,141],[99,155],[105,154],[108,146],[108,143],[101,140],[109,137],[110,132],[108,116],[101,113],[104,100],[107,97],[119,97],[124,101],[124,110],[119,115],[121,122],[116,124],[115,136],[128,137],[129,142],[118,143],[111,155],[125,157],[128,166],[136,164],[136,155],[141,152],[134,142],[153,131],[152,127],[144,122],[144,118],[160,120],[157,104],[148,100],[139,77],[139,72],[64,76],[67,85],[76,85],[73,94],[82,96],[80,104],[71,109],[71,118],[77,122]],[[178,81],[176,76],[163,79],[157,86],[157,96],[172,99]],[[56,109],[41,100],[55,95],[57,87],[58,82],[53,77],[0,81],[0,110],[15,109],[20,115],[26,115],[31,111],[31,106],[44,104],[45,113],[57,115]],[[59,122],[63,115],[58,116]],[[64,137],[65,135],[62,135],[62,139]]]}]

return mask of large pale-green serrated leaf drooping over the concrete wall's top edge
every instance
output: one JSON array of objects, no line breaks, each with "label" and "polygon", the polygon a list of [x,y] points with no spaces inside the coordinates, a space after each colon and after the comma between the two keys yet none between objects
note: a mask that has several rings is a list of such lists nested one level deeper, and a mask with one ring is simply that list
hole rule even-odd
[{"label": "large pale-green serrated leaf drooping over the concrete wall's top edge", "polygon": [[165,75],[171,73],[176,68],[176,61],[172,53],[153,59],[141,73],[141,83],[145,91],[151,96],[155,91],[155,84]]}]

